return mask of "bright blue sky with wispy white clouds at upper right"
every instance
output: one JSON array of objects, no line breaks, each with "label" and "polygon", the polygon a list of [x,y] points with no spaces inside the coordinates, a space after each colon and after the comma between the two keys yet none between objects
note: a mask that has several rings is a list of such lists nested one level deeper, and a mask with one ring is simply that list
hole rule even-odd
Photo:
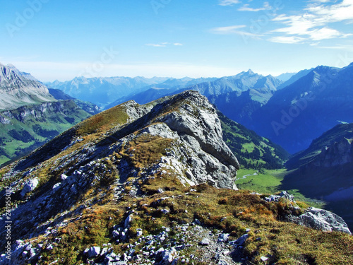
[{"label": "bright blue sky with wispy white clouds at upper right", "polygon": [[0,0],[0,63],[40,81],[234,76],[353,61],[353,0]]}]

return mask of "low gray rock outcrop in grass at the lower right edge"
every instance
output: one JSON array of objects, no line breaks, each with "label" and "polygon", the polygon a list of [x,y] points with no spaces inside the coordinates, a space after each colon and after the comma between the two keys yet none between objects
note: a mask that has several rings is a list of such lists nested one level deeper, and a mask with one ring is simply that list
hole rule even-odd
[{"label": "low gray rock outcrop in grass at the lower right edge", "polygon": [[298,225],[304,225],[317,230],[346,232],[351,235],[345,220],[335,213],[319,208],[311,207],[308,211],[301,214],[301,216],[292,216],[290,220]]}]

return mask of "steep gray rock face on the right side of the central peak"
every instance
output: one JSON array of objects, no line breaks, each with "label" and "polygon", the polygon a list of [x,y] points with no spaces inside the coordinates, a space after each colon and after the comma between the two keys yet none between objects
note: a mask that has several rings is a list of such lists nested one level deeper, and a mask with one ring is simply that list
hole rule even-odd
[{"label": "steep gray rock face on the right side of the central peak", "polygon": [[215,108],[194,91],[181,93],[170,101],[174,100],[181,101],[179,109],[156,119],[165,124],[159,131],[164,131],[168,138],[178,139],[169,160],[179,160],[186,169],[186,178],[193,184],[208,182],[215,187],[237,189],[234,180],[239,163],[222,140]]}]

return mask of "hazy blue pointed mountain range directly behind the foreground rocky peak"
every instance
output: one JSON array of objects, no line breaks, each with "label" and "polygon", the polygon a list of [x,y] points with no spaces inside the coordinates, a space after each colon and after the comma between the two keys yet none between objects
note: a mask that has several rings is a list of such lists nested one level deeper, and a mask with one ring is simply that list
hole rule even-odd
[{"label": "hazy blue pointed mountain range directly behind the foreground rocky peak", "polygon": [[[164,82],[167,83],[168,81]],[[150,88],[136,95],[130,95],[113,102],[109,107],[122,100],[135,100],[144,104],[166,95],[173,95],[184,90],[196,90],[217,106],[227,117],[243,123],[251,114],[266,104],[282,81],[273,76],[261,76],[253,71],[243,71],[236,76],[217,78],[214,81],[198,83],[181,88]]]}]

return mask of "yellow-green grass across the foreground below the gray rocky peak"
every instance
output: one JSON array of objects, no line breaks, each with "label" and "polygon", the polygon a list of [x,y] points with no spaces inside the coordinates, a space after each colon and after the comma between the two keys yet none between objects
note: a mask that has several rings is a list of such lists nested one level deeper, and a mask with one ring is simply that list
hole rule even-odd
[{"label": "yellow-green grass across the foreground below the gray rocky peak", "polygon": [[[111,184],[111,183],[108,183]],[[270,263],[276,264],[352,264],[350,254],[353,249],[352,236],[339,232],[321,232],[309,228],[282,223],[277,220],[287,211],[287,201],[280,204],[266,203],[260,196],[246,191],[215,189],[205,184],[196,187],[196,192],[190,192],[190,187],[183,187],[174,178],[148,179],[141,182],[148,196],[136,198],[127,193],[121,201],[112,199],[112,187],[107,190],[107,196],[102,198],[102,192],[88,192],[82,198],[94,201],[100,199],[100,205],[95,204],[90,209],[83,210],[79,218],[71,216],[68,225],[58,229],[57,237],[61,240],[53,251],[44,249],[43,264],[50,264],[59,259],[62,264],[80,264],[84,261],[80,253],[92,245],[102,246],[111,243],[115,253],[124,253],[128,244],[138,241],[137,228],[143,229],[143,235],[157,234],[162,227],[190,223],[198,218],[210,230],[229,232],[231,240],[237,239],[250,228],[249,239],[246,240],[245,253],[253,264],[262,264],[260,258],[270,257]],[[166,190],[158,194],[157,188]],[[104,187],[102,189],[106,190]],[[126,192],[128,192],[126,187]],[[167,199],[160,200],[162,197]],[[85,200],[83,199],[83,201]],[[127,216],[126,208],[132,208],[133,221],[128,230],[128,242],[116,243],[112,239],[112,227],[124,223]],[[169,209],[169,213],[161,214],[161,209]],[[178,238],[174,230],[172,238]],[[261,240],[257,240],[258,238]],[[32,239],[33,240],[33,239]],[[54,237],[37,237],[35,244],[54,240]],[[165,242],[167,243],[167,241]],[[194,244],[197,242],[194,242]],[[142,253],[142,249],[137,254]],[[186,248],[181,254],[202,255],[196,252],[196,247]]]}]

